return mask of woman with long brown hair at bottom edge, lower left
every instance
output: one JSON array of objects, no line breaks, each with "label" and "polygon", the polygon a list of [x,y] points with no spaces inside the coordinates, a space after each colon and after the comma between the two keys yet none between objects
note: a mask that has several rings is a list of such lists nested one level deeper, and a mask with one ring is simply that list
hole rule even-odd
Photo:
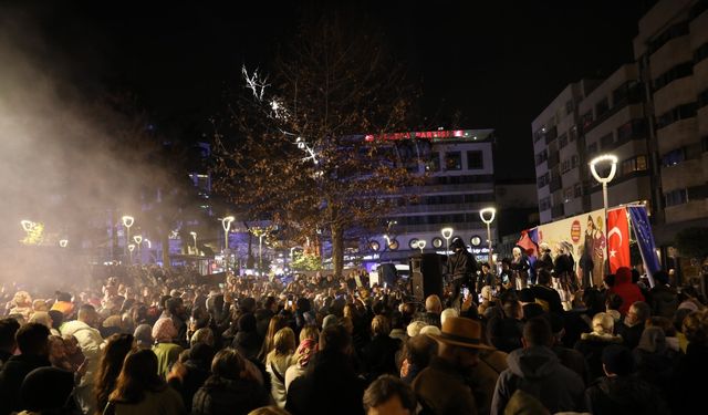
[{"label": "woman with long brown hair at bottom edge, lower left", "polygon": [[104,414],[186,415],[187,411],[181,396],[157,374],[155,353],[137,350],[125,357]]}]

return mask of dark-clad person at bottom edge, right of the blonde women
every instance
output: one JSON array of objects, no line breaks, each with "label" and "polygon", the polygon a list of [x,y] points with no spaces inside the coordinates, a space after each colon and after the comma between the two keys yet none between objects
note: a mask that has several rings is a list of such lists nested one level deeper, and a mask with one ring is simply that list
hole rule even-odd
[{"label": "dark-clad person at bottom edge, right of the blonde women", "polygon": [[354,372],[351,353],[352,338],[343,325],[324,329],[308,372],[290,384],[285,409],[293,415],[362,415],[365,384]]}]

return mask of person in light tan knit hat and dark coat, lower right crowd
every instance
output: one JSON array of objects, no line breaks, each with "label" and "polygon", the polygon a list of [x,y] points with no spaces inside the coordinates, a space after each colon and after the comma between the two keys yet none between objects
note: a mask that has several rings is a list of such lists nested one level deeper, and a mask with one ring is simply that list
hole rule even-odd
[{"label": "person in light tan knit hat and dark coat, lower right crowd", "polygon": [[602,370],[602,351],[611,344],[622,344],[622,338],[614,335],[614,319],[601,312],[593,317],[593,331],[583,333],[575,343],[575,350],[587,361],[591,381],[604,375]]}]

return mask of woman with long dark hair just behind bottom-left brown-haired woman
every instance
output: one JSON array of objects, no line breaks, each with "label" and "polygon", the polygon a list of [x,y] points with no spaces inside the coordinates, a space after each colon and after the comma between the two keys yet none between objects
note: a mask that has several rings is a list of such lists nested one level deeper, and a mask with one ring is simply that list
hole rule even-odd
[{"label": "woman with long dark hair just behind bottom-left brown-haired woman", "polygon": [[123,361],[134,346],[135,340],[131,334],[113,334],[106,339],[93,387],[98,411],[106,407],[108,395],[113,392],[115,381],[123,369]]}]

